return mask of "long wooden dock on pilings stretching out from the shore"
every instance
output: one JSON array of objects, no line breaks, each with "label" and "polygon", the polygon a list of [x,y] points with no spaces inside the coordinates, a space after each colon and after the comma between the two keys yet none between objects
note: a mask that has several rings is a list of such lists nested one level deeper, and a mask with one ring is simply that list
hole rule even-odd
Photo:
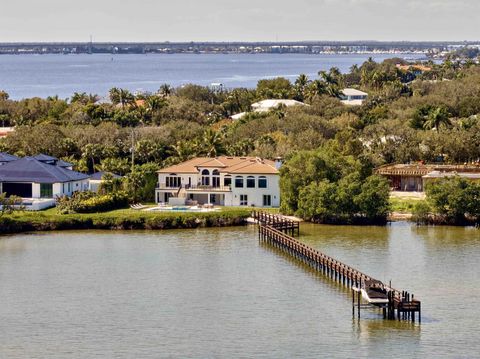
[{"label": "long wooden dock on pilings stretching out from the shore", "polygon": [[[381,281],[360,272],[359,270],[344,264],[306,244],[300,242],[295,236],[300,235],[300,224],[284,216],[265,212],[253,212],[253,218],[258,223],[259,240],[269,243],[291,256],[303,261],[315,270],[332,278],[333,280],[352,289],[352,312],[360,318],[362,284],[366,281]],[[415,321],[415,313],[421,321],[421,302],[414,298],[413,294],[392,288],[382,283],[388,297],[388,304],[381,306],[385,319],[412,320]]]}]

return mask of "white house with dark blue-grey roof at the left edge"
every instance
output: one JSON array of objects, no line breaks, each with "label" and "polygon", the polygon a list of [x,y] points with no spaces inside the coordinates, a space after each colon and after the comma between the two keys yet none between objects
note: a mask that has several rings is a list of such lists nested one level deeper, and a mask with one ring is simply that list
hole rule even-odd
[{"label": "white house with dark blue-grey roof at the left edge", "polygon": [[24,157],[0,166],[0,193],[22,197],[31,205],[52,206],[58,196],[88,190],[88,175],[58,166],[57,161]]}]

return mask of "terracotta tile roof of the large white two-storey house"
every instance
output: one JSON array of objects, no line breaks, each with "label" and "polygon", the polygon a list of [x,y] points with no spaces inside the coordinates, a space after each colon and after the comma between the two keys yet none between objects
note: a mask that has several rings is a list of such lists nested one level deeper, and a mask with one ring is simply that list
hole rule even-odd
[{"label": "terracotta tile roof of the large white two-storey house", "polygon": [[198,168],[218,168],[222,173],[278,174],[275,162],[257,157],[215,158],[197,157],[178,165],[161,169],[158,173],[198,173]]}]

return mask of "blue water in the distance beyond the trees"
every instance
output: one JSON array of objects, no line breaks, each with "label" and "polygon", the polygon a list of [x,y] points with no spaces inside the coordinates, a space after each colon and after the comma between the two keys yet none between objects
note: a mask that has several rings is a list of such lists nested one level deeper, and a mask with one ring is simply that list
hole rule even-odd
[{"label": "blue water in the distance beyond the trees", "polygon": [[[377,61],[392,54],[373,56]],[[407,58],[423,55],[405,54]],[[74,92],[105,95],[112,87],[156,91],[163,83],[254,87],[259,79],[305,73],[337,66],[347,71],[369,55],[301,54],[172,54],[172,55],[2,55],[0,89],[12,98],[71,96]]]}]

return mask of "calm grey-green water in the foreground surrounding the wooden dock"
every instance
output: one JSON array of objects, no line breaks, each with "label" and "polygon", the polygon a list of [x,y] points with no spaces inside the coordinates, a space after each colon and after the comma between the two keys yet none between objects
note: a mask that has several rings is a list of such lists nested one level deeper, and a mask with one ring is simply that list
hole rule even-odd
[{"label": "calm grey-green water in the foreground surrounding the wooden dock", "polygon": [[480,231],[303,226],[421,298],[422,324],[352,319],[350,292],[253,227],[0,239],[0,358],[474,358]]}]

